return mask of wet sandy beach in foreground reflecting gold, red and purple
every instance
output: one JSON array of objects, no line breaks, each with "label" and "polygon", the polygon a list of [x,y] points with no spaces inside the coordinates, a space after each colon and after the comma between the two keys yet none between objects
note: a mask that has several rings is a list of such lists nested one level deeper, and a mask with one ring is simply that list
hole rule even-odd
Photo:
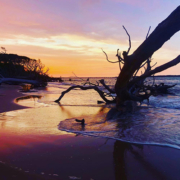
[{"label": "wet sandy beach in foreground reflecting gold, red and purple", "polygon": [[179,149],[61,131],[64,119],[98,119],[107,110],[39,106],[34,99],[17,104],[15,98],[26,96],[19,88],[0,86],[0,179],[179,179]]}]

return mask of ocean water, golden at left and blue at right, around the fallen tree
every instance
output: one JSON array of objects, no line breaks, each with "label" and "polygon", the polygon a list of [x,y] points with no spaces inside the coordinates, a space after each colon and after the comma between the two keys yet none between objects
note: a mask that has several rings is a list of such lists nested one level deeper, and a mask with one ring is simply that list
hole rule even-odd
[{"label": "ocean water, golden at left and blue at right, around the fallen tree", "polygon": [[[64,82],[49,82],[46,89],[30,93],[42,96],[37,101],[33,97],[32,106],[59,107],[63,113],[69,113],[69,118],[61,118],[57,124],[61,132],[180,149],[180,77],[156,77],[155,84],[176,86],[169,89],[167,94],[151,96],[149,103],[145,100],[135,112],[109,120],[106,120],[106,116],[113,105],[97,104],[97,100],[102,99],[94,90],[72,90],[62,98],[60,104],[54,102],[62,91],[71,85],[82,85],[86,79],[71,78],[69,81],[69,78],[64,78]],[[90,82],[97,83],[99,79],[104,79],[111,87],[116,81],[116,78],[90,78]],[[148,78],[147,83],[153,83],[153,78]],[[18,103],[25,105],[23,101]],[[74,116],[71,109],[76,111]],[[85,126],[76,122],[76,118],[84,118]]]}]

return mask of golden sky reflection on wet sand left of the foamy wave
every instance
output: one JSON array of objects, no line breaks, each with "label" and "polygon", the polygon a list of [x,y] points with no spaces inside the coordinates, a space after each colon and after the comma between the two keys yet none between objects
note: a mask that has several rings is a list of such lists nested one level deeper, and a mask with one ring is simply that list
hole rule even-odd
[{"label": "golden sky reflection on wet sand left of the foamy wave", "polygon": [[80,119],[98,116],[100,107],[76,106],[48,106],[0,114],[0,134],[14,133],[14,135],[57,135],[67,134],[58,130],[58,124],[67,118]]}]

